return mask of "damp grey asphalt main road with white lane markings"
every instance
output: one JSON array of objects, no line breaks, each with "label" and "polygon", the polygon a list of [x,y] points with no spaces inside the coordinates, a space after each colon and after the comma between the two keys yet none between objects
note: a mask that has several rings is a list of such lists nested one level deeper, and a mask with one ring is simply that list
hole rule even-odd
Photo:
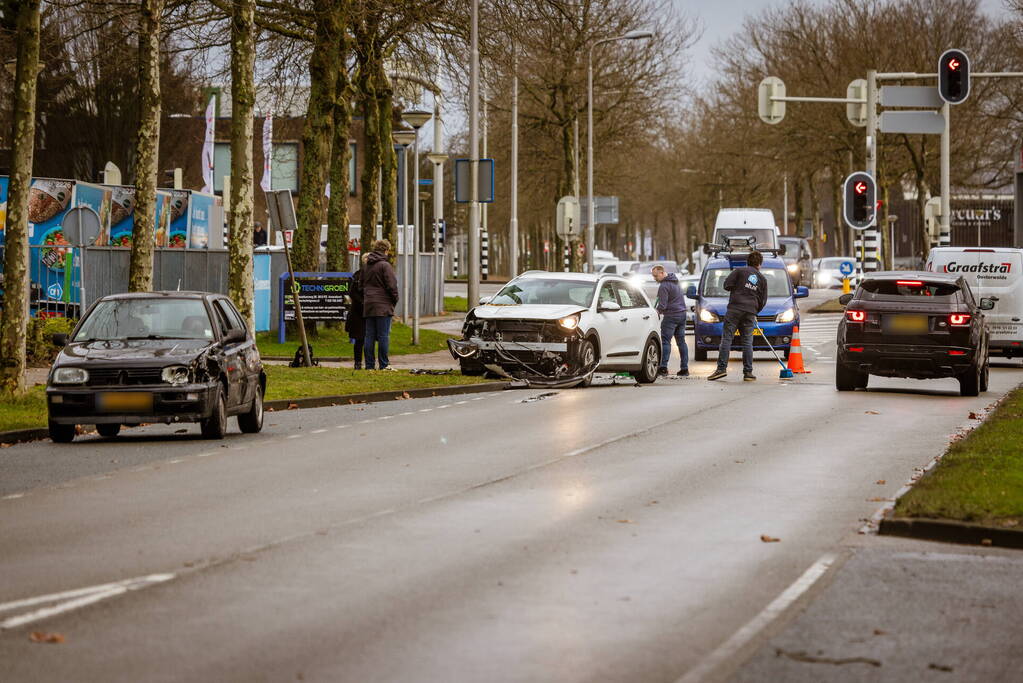
[{"label": "damp grey asphalt main road with white lane markings", "polygon": [[736,357],[720,382],[694,363],[273,413],[224,442],[5,449],[0,678],[675,681],[1023,378],[839,394],[834,320],[807,321],[813,372],[791,382],[768,356],[744,383]]}]

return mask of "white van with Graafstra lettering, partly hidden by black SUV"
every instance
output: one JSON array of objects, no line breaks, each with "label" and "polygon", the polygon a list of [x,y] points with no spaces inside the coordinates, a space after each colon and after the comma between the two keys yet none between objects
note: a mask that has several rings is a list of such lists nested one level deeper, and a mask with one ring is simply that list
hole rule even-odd
[{"label": "white van with Graafstra lettering, partly hidden by black SUV", "polygon": [[991,354],[1023,357],[1023,249],[939,246],[926,269],[962,275],[978,300],[993,299],[994,308],[984,313]]}]

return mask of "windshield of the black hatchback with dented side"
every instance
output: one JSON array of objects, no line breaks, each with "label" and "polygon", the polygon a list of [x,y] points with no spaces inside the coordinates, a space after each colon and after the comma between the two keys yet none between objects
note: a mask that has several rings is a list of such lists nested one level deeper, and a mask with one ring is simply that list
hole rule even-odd
[{"label": "windshield of the black hatchback with dented side", "polygon": [[112,299],[100,302],[73,342],[212,339],[213,325],[197,299]]}]

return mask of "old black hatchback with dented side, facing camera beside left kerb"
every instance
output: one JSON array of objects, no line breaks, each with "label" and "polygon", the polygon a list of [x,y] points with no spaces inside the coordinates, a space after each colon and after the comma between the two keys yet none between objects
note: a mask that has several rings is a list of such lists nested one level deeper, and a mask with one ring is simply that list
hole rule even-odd
[{"label": "old black hatchback with dented side, facing camera beside left kerb", "polygon": [[103,437],[121,425],[198,422],[221,439],[229,415],[242,431],[263,428],[266,374],[241,316],[222,294],[154,291],[104,297],[62,346],[46,386],[50,438],[77,424]]}]

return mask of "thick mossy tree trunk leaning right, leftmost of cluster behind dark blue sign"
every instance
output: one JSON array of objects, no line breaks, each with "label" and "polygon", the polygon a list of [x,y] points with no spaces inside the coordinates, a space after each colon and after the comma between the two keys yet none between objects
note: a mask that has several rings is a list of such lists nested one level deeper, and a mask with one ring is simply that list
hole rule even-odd
[{"label": "thick mossy tree trunk leaning right, leftmost of cluster behind dark blue sign", "polygon": [[292,253],[297,271],[319,269],[320,225],[323,223],[323,194],[333,141],[338,74],[345,66],[341,61],[344,35],[342,4],[333,1],[318,3],[317,7],[313,51],[309,57],[309,105],[302,132],[304,158],[296,217],[299,225]]}]

